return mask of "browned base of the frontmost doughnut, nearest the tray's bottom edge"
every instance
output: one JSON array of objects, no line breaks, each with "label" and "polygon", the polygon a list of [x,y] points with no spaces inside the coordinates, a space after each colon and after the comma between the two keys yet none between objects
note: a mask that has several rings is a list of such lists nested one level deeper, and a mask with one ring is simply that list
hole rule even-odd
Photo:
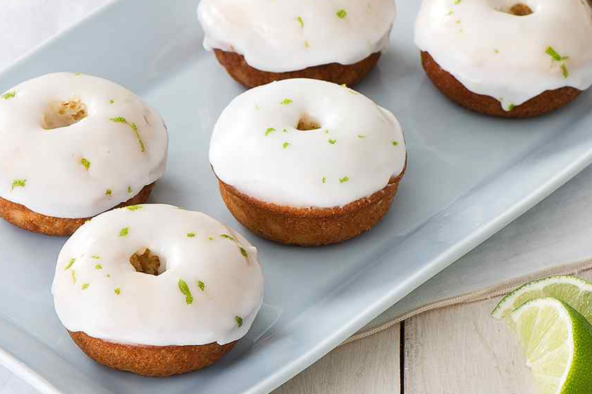
[{"label": "browned base of the frontmost doughnut, nearest the tray's bottom edge", "polygon": [[145,346],[108,342],[80,331],[68,333],[84,354],[97,363],[148,377],[169,377],[200,370],[218,361],[237,343]]}]

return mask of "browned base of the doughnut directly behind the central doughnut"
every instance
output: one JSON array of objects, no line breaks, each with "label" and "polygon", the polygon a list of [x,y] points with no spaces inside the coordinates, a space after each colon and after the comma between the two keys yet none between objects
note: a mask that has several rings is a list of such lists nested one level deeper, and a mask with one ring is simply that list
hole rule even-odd
[{"label": "browned base of the doughnut directly behind the central doughnut", "polygon": [[248,88],[290,78],[322,79],[327,82],[352,86],[360,82],[376,66],[376,62],[380,58],[380,52],[376,52],[354,64],[330,63],[288,73],[269,73],[249,66],[244,56],[235,52],[214,50],[214,53],[221,65],[226,68],[228,74],[239,84],[243,84]]}]

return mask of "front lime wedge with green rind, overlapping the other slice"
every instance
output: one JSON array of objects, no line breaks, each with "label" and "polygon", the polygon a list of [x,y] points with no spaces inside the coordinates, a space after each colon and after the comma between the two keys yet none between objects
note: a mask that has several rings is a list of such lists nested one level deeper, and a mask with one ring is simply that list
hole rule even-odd
[{"label": "front lime wedge with green rind, overlapping the other slice", "polygon": [[541,394],[590,393],[592,326],[555,298],[528,301],[510,315]]}]

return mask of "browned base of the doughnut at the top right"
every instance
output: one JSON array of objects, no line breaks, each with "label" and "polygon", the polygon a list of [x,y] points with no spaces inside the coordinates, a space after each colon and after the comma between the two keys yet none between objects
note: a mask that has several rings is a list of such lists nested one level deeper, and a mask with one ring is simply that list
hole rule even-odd
[{"label": "browned base of the doughnut at the top right", "polygon": [[473,93],[466,89],[458,79],[441,68],[428,52],[422,52],[422,66],[431,82],[444,96],[466,109],[490,116],[503,118],[540,116],[571,103],[579,96],[579,93],[582,93],[578,89],[565,86],[561,89],[545,91],[526,103],[517,105],[512,111],[505,111],[496,98]]}]

